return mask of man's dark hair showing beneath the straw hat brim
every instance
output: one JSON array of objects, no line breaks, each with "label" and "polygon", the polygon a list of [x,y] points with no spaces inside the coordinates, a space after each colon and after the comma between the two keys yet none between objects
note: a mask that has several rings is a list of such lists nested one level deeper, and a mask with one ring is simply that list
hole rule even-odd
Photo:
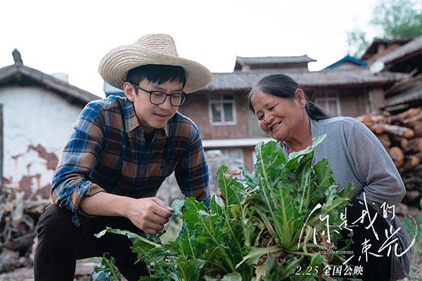
[{"label": "man's dark hair showing beneath the straw hat brim", "polygon": [[143,79],[156,84],[177,81],[186,84],[184,68],[178,65],[141,65],[127,72],[126,81],[139,85]]}]

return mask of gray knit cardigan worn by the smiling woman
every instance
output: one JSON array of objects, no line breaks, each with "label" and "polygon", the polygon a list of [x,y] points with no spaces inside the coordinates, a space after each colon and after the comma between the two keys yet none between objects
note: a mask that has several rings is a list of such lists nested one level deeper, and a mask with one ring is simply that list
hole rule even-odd
[{"label": "gray knit cardigan worn by the smiling woman", "polygon": [[[354,197],[371,204],[383,219],[381,204],[387,202],[390,206],[402,201],[406,192],[402,178],[378,138],[361,122],[350,117],[333,117],[319,121],[311,120],[312,137],[326,134],[325,140],[316,146],[314,163],[326,157],[333,170],[333,178],[345,188],[347,183],[354,184]],[[288,148],[281,143],[283,152],[288,155]],[[397,216],[388,223],[397,233],[397,254],[402,253],[410,245],[409,235]],[[391,280],[404,278],[409,274],[410,251],[397,257],[393,248]]]}]

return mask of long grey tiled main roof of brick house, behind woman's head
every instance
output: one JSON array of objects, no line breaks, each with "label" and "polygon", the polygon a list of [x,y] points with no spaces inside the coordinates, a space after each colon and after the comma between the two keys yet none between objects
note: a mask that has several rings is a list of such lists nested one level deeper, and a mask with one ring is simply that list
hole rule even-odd
[{"label": "long grey tiled main roof of brick house, behind woman's head", "polygon": [[304,88],[329,88],[339,86],[383,86],[399,81],[407,74],[380,72],[372,74],[369,70],[324,70],[319,72],[281,72],[280,70],[214,73],[214,80],[205,87],[205,91],[246,90],[250,89],[263,77],[283,73],[292,77]]}]

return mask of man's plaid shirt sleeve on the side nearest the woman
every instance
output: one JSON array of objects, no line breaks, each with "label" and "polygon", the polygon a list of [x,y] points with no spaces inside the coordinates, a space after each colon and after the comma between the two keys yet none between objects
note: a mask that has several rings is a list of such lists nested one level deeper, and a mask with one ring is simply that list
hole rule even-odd
[{"label": "man's plaid shirt sleeve on the side nearest the woman", "polygon": [[205,152],[197,128],[191,131],[184,156],[174,170],[181,192],[186,197],[196,197],[196,200],[210,201],[209,174]]}]

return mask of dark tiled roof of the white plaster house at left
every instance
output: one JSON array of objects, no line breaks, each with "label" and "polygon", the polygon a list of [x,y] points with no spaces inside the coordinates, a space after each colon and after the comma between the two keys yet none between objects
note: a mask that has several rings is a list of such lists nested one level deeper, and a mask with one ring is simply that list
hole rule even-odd
[{"label": "dark tiled roof of the white plaster house at left", "polygon": [[[15,53],[13,57],[15,58]],[[0,86],[3,85],[41,85],[52,91],[64,94],[78,103],[89,103],[92,100],[98,100],[100,97],[79,89],[66,81],[62,81],[49,74],[45,74],[34,68],[23,65],[18,53],[18,59],[15,58],[15,64],[0,68]]]}]

